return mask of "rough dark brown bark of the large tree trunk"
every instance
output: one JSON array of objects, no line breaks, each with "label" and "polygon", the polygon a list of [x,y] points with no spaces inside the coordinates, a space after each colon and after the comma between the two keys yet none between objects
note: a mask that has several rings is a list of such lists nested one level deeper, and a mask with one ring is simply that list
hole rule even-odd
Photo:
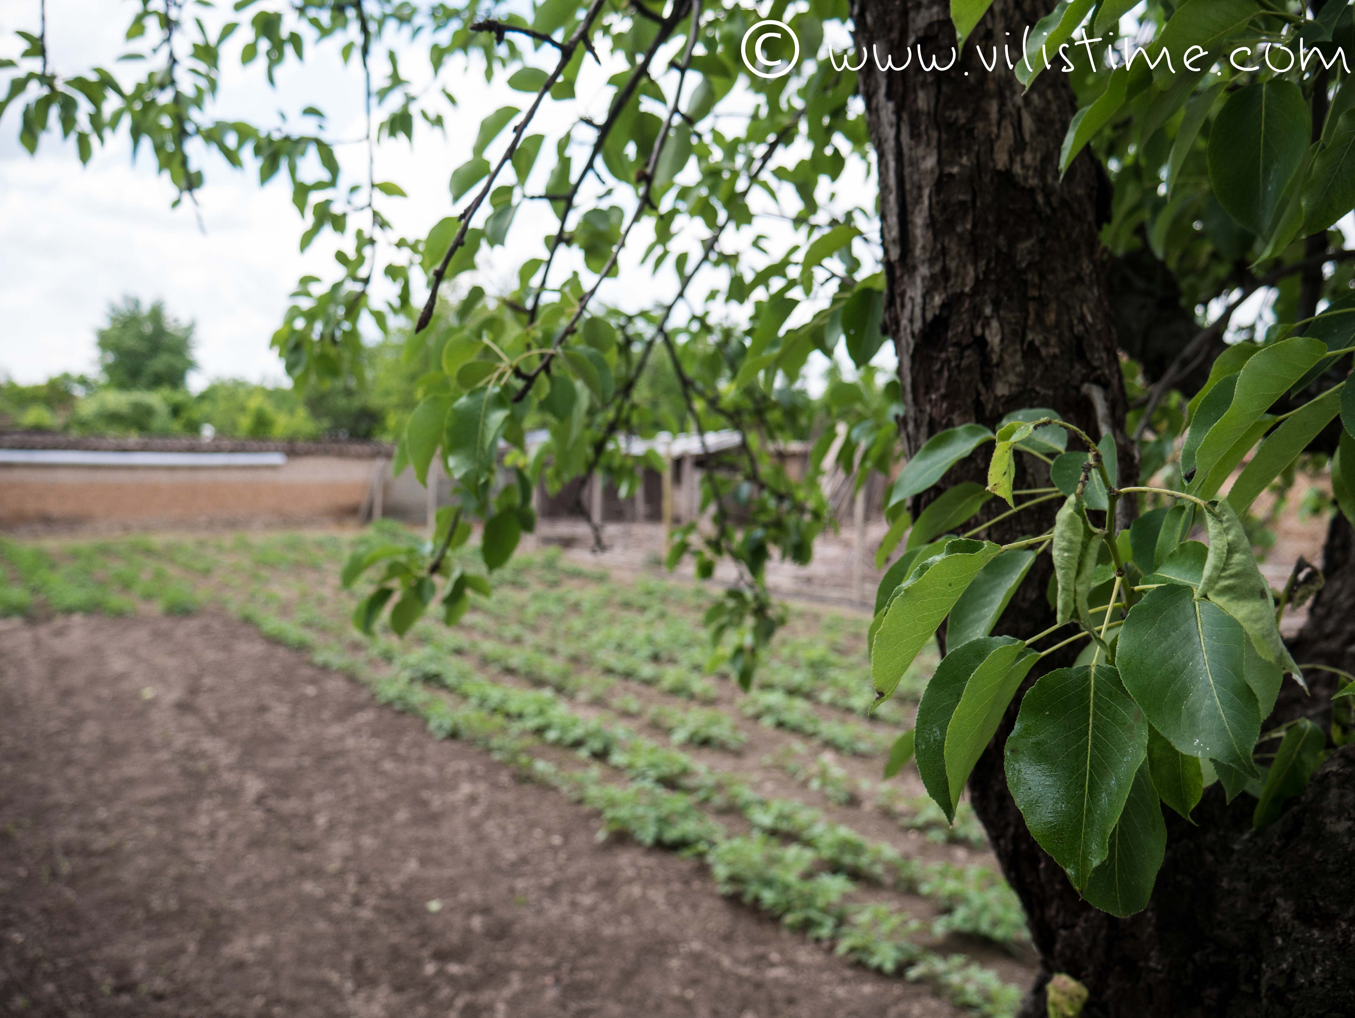
[{"label": "rough dark brown bark of the large tree trunk", "polygon": [[[1084,155],[1060,180],[1072,92],[1046,73],[1023,94],[1001,57],[1004,43],[1019,50],[1024,26],[1047,7],[997,0],[966,45],[967,58],[948,73],[928,73],[917,69],[919,57],[944,64],[955,42],[947,0],[854,0],[858,47],[877,47],[882,62],[892,54],[896,66],[913,52],[906,72],[881,70],[874,60],[859,72],[879,169],[885,321],[906,407],[900,428],[915,451],[943,428],[993,426],[1009,411],[1049,407],[1095,435],[1087,388],[1095,385],[1107,397],[1126,479],[1135,465],[1121,430],[1125,396],[1098,241],[1099,174]],[[973,47],[992,62],[995,46],[1001,62],[988,73]],[[982,458],[961,464],[950,480],[981,480]],[[1018,466],[1018,488],[1042,484],[1041,464]],[[1054,507],[1001,522],[988,535],[1041,533]],[[1003,632],[1035,633],[1053,621],[1045,568],[1018,594]],[[1355,617],[1355,568],[1346,572],[1351,580],[1333,576],[1314,609],[1314,619],[1328,619],[1324,632],[1332,622],[1348,630],[1341,606],[1344,619]],[[1350,595],[1337,596],[1347,586]],[[1309,660],[1350,667],[1329,656]],[[1007,792],[1003,748],[1015,713],[1016,705],[969,789],[1042,958],[1023,1017],[1043,1015],[1043,983],[1054,972],[1088,987],[1088,1015],[1344,1013],[1355,999],[1352,748],[1333,755],[1306,796],[1259,834],[1251,832],[1247,797],[1228,807],[1217,786],[1199,807],[1199,827],[1169,817],[1154,901],[1118,920],[1079,899]]]}]

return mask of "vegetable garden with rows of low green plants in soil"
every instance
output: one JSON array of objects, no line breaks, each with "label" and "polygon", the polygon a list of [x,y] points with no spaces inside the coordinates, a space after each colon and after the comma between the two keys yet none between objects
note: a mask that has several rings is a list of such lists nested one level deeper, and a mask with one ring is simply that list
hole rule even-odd
[{"label": "vegetable garden with rows of low green plants in soil", "polygon": [[[846,960],[927,984],[982,1015],[1014,1013],[1030,949],[1015,896],[961,804],[951,826],[912,769],[881,771],[934,660],[874,694],[862,619],[797,607],[756,687],[711,660],[714,594],[610,580],[558,549],[519,554],[455,629],[369,636],[340,565],[390,542],[333,534],[127,537],[0,546],[5,614],[224,609],[630,838],[699,858],[720,892]],[[351,545],[351,546],[350,546]],[[476,554],[457,565],[473,571]],[[469,575],[476,576],[476,572]],[[477,579],[476,583],[482,580]]]}]

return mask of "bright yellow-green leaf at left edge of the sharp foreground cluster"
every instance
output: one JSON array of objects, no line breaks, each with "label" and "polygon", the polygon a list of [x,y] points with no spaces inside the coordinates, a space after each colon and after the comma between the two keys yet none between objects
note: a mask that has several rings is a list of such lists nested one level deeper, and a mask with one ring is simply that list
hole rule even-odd
[{"label": "bright yellow-green leaf at left edge of the sharp foreground cluster", "polygon": [[881,701],[893,695],[917,652],[999,552],[1001,548],[991,541],[957,538],[898,588],[871,641],[870,675]]}]

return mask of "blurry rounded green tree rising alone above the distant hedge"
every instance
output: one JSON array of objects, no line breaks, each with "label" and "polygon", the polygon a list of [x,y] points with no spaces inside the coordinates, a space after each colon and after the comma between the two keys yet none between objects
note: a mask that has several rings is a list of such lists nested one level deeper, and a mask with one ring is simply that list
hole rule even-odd
[{"label": "blurry rounded green tree rising alone above the distant hedge", "polygon": [[99,329],[99,365],[114,389],[183,389],[192,359],[194,323],[165,312],[163,301],[142,308],[136,297],[108,306]]}]

